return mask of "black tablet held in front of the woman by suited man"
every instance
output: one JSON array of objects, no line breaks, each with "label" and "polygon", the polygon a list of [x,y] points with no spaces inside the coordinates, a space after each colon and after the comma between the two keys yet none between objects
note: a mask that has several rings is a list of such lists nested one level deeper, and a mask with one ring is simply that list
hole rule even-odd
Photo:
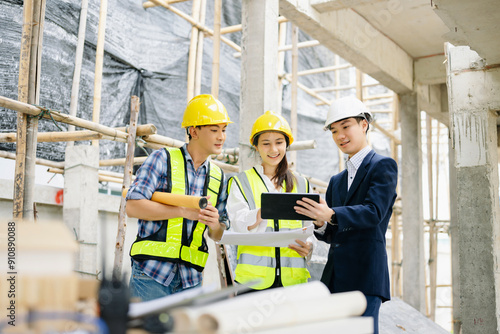
[{"label": "black tablet held in front of the woman by suited man", "polygon": [[262,219],[314,220],[295,212],[297,201],[307,197],[319,203],[319,194],[262,193],[260,197]]}]

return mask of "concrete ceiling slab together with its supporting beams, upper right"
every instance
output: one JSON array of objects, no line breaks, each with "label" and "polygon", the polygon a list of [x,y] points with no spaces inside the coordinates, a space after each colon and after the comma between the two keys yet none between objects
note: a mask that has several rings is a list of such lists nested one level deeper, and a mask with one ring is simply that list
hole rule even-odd
[{"label": "concrete ceiling slab together with its supporting beams, upper right", "polygon": [[[445,43],[500,65],[499,0],[279,0],[280,14],[311,38],[448,123]],[[499,118],[500,120],[500,118]]]}]

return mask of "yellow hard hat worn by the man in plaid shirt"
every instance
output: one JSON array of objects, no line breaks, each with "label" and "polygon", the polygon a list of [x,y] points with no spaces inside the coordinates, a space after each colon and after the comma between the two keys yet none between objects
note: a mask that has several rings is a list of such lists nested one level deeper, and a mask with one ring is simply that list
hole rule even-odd
[{"label": "yellow hard hat worn by the man in plaid shirt", "polygon": [[229,119],[226,107],[213,95],[203,94],[195,96],[189,101],[184,111],[181,126],[187,128],[221,123],[233,123]]}]

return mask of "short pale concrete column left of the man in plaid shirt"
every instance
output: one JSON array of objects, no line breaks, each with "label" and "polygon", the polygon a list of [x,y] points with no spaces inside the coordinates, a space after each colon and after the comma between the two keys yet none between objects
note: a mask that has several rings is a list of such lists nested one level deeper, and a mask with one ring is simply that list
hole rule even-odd
[{"label": "short pale concrete column left of the man in plaid shirt", "polygon": [[64,167],[64,223],[79,242],[76,270],[96,275],[98,241],[99,147],[66,147]]}]

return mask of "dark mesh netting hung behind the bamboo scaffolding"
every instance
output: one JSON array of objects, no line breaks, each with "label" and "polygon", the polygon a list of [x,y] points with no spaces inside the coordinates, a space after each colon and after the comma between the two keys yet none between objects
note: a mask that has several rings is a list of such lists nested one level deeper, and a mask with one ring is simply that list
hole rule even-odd
[{"label": "dark mesh netting hung behind the bamboo scaffolding", "polygon": [[[208,1],[206,26],[213,26],[213,3]],[[175,5],[191,13],[191,3]],[[22,29],[22,1],[0,1],[0,95],[17,99],[19,50]],[[68,112],[75,63],[75,49],[80,19],[80,2],[74,0],[47,1],[43,49],[40,105]],[[85,50],[80,80],[77,116],[92,119],[95,46],[99,20],[99,1],[89,3]],[[222,26],[241,22],[241,3],[223,1]],[[180,127],[186,105],[186,77],[191,25],[161,7],[144,9],[140,0],[108,2],[106,43],[102,80],[100,123],[110,127],[125,126],[130,114],[130,96],[141,99],[139,123],[153,123],[158,134],[184,140]],[[290,29],[289,29],[290,30]],[[288,31],[288,43],[291,40]],[[240,43],[241,33],[225,37]],[[300,41],[309,39],[301,34]],[[240,58],[235,50],[221,43],[219,99],[236,123],[228,127],[225,147],[238,145]],[[331,66],[334,55],[324,47],[301,49],[299,70]],[[211,85],[212,40],[204,39],[201,93],[209,93]],[[291,55],[285,57],[285,71],[291,70]],[[340,84],[348,84],[346,71]],[[335,84],[333,72],[300,78],[308,87]],[[349,92],[344,92],[349,93]],[[352,92],[350,92],[352,93]],[[327,95],[325,95],[327,96]],[[333,98],[333,95],[328,97]],[[328,178],[338,170],[338,154],[330,134],[322,131],[326,106],[299,90],[299,130],[296,140],[315,139],[315,150],[298,153],[298,171],[318,179]],[[290,85],[283,89],[283,114],[290,116]],[[0,131],[16,131],[16,112],[0,108]],[[65,130],[66,124],[60,124]],[[39,122],[39,131],[58,131],[47,120]],[[242,140],[246,142],[246,139]],[[88,144],[77,142],[78,144]],[[39,143],[37,157],[64,160],[65,143]],[[0,143],[0,150],[15,151],[15,144]],[[100,142],[101,159],[123,157],[125,145],[112,141]]]}]

